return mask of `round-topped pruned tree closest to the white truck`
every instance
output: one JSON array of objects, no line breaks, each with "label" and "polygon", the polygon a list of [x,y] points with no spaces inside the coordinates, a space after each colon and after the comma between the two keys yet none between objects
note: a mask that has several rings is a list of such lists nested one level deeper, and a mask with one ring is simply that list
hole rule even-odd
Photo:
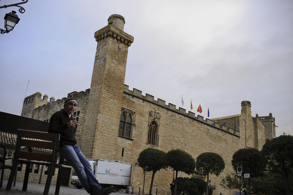
[{"label": "round-topped pruned tree closest to the white truck", "polygon": [[152,194],[155,173],[161,168],[167,167],[165,155],[165,152],[155,148],[147,148],[139,153],[139,157],[137,159],[138,165],[141,168],[146,168],[147,172],[153,172],[149,194]]}]

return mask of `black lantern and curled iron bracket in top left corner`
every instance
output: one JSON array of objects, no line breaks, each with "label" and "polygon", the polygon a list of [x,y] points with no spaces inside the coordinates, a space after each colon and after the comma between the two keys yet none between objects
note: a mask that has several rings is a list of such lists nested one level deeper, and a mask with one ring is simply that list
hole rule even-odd
[{"label": "black lantern and curled iron bracket in top left corner", "polygon": [[[18,11],[20,13],[24,13],[25,10],[23,7],[19,6],[20,4],[24,4],[27,3],[28,0],[21,0],[23,2],[20,3],[14,3],[11,5],[4,5],[4,6],[0,6],[0,8],[7,8],[7,7],[11,7],[11,6],[16,6],[16,7],[20,7],[20,9],[18,9]],[[4,28],[6,30],[3,30],[0,28],[0,33],[4,34],[4,33],[9,33],[10,31],[13,30],[13,28],[15,27],[15,25],[18,23],[18,21],[20,20],[20,18],[16,15],[15,11],[11,11],[10,13],[6,13],[5,17],[4,17],[5,23],[4,23]]]}]

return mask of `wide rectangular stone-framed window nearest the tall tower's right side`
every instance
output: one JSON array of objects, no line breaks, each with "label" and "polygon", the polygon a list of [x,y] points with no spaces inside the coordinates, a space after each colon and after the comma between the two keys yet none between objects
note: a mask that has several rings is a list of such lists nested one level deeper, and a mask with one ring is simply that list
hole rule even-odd
[{"label": "wide rectangular stone-framed window nearest the tall tower's right side", "polygon": [[134,113],[122,109],[118,135],[131,138],[133,121],[134,121]]}]

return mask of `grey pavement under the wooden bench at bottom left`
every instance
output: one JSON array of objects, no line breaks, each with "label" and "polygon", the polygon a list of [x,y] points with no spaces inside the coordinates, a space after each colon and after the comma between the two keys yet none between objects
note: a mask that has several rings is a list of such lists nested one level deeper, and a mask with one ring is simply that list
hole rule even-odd
[{"label": "grey pavement under the wooden bench at bottom left", "polygon": [[[16,181],[16,185],[12,186],[10,191],[6,191],[6,184],[7,180],[3,180],[3,186],[0,188],[0,194],[1,195],[41,195],[44,193],[45,185],[44,184],[38,184],[38,183],[28,183],[27,184],[27,191],[22,191],[22,185],[23,182]],[[49,195],[55,194],[55,187],[51,185],[49,190]],[[60,186],[60,195],[89,195],[83,188],[82,189],[76,189],[76,188],[70,188],[70,187],[64,187]],[[123,195],[125,193],[119,193],[119,192],[112,192],[110,195]]]}]

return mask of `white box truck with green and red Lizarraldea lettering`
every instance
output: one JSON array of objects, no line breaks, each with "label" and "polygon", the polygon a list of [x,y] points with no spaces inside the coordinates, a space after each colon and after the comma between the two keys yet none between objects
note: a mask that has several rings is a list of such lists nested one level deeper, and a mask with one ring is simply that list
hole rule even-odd
[{"label": "white box truck with green and red Lizarraldea lettering", "polygon": [[[130,185],[132,164],[117,160],[108,159],[88,159],[96,179],[102,187],[114,186],[113,192],[119,189],[126,189]],[[78,189],[82,185],[75,173],[72,172],[71,184],[76,185]]]}]

